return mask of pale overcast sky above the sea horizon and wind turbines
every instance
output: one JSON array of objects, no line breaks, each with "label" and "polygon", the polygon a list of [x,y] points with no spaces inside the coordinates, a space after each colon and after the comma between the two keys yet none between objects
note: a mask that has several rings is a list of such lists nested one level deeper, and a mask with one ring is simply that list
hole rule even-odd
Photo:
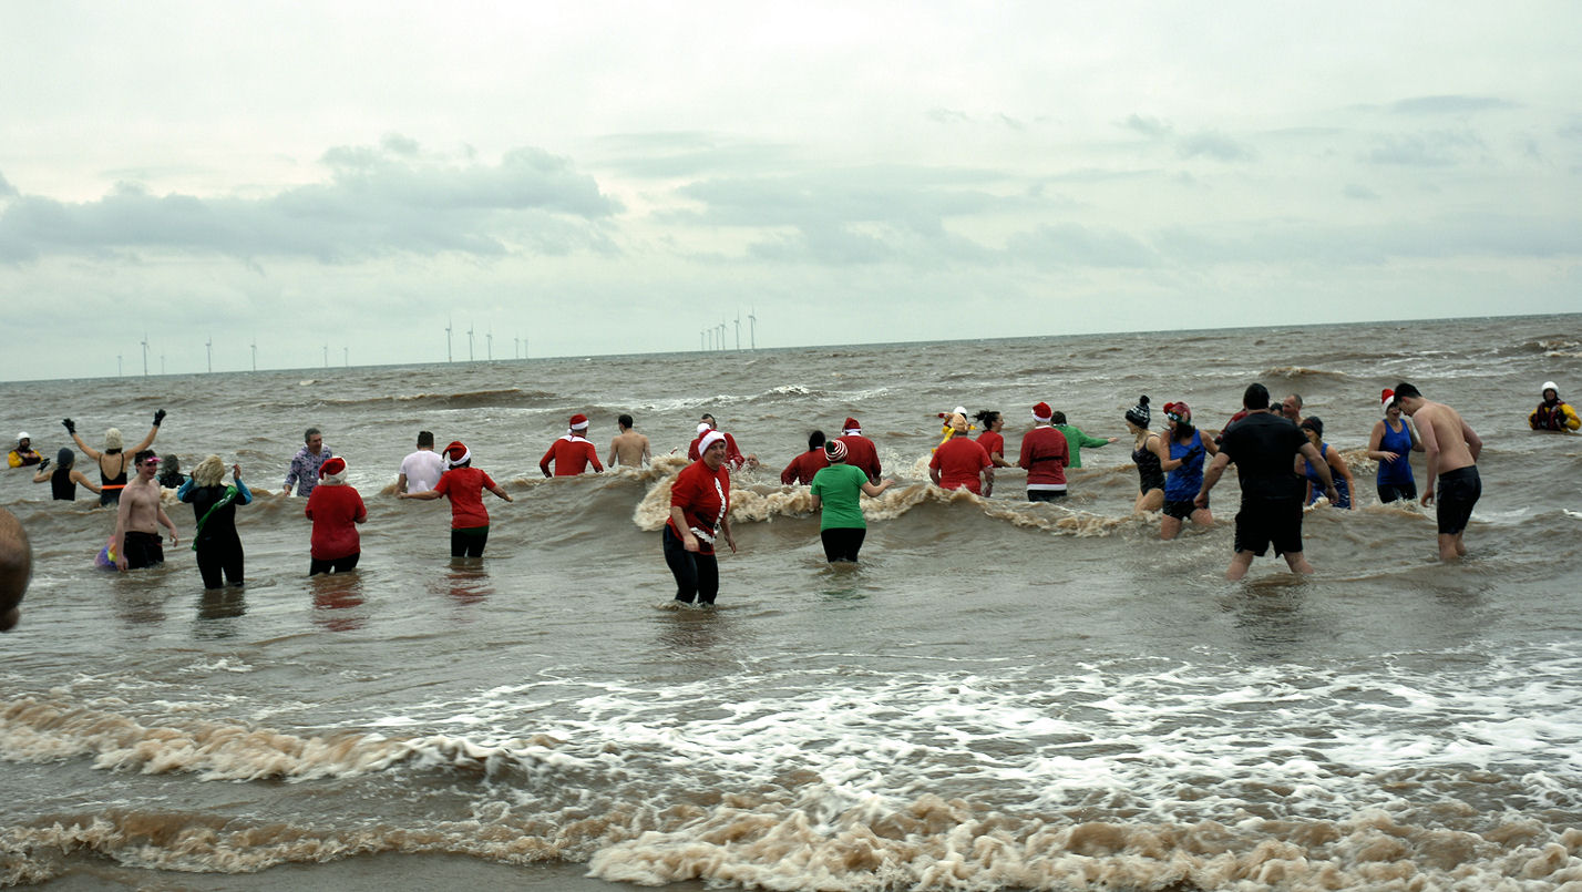
[{"label": "pale overcast sky above the sea horizon and wind turbines", "polygon": [[1577,312],[1579,38],[1571,0],[0,0],[0,375]]}]

